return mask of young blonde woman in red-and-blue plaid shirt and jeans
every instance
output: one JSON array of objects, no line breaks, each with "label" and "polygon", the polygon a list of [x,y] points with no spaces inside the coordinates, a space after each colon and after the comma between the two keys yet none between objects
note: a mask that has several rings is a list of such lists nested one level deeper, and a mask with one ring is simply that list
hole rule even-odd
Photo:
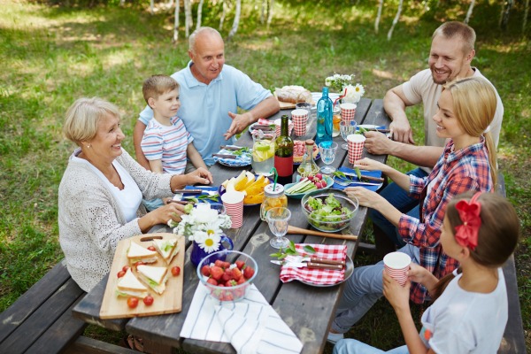
[{"label": "young blonde woman in red-and-blue plaid shirt and jeans", "polygon": [[[401,188],[419,198],[420,215],[403,214],[377,193],[362,187],[345,191],[349,196],[357,197],[360,205],[373,208],[389,219],[407,243],[399,251],[441,278],[458,267],[458,262],[448,257],[439,244],[446,205],[460,193],[491,191],[496,185],[496,150],[488,132],[496,112],[496,94],[487,81],[466,78],[447,84],[437,106],[439,110],[433,118],[437,135],[449,141],[426,178],[400,173],[370,158],[363,158],[356,164],[365,170],[381,170]],[[342,334],[382,296],[382,271],[382,261],[354,270],[336,311],[329,342],[341,339]],[[412,301],[421,304],[426,297],[427,290],[419,283],[413,283]]]}]

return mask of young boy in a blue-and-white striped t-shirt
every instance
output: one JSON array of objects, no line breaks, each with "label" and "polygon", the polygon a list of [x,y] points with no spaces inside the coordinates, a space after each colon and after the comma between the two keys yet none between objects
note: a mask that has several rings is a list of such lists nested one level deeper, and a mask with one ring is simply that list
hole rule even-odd
[{"label": "young boy in a blue-and-white striped t-shirt", "polygon": [[[179,101],[179,83],[166,75],[153,75],[143,82],[142,94],[153,110],[142,136],[141,147],[150,162],[154,173],[184,173],[187,158],[196,167],[207,168],[203,158],[194,146],[194,138],[189,134],[177,116]],[[151,211],[163,204],[156,199],[145,201]]]}]

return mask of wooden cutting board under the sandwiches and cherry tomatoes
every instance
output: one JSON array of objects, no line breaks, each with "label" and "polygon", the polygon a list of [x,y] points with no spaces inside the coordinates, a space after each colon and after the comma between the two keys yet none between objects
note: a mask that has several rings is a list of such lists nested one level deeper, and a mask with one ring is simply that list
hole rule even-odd
[{"label": "wooden cutting board under the sandwiches and cherry tomatoes", "polygon": [[[153,238],[164,239],[168,236],[175,236],[173,234],[146,234],[137,235],[127,240],[122,240],[118,243],[114,259],[112,260],[111,273],[109,274],[109,280],[107,281],[107,287],[105,288],[104,301],[102,308],[100,309],[100,317],[102,319],[122,319],[130,317],[142,317],[160,315],[164,313],[181,312],[182,308],[182,281],[184,279],[184,254],[185,254],[185,240],[184,236],[178,237],[179,253],[172,259],[170,265],[168,265],[168,280],[166,281],[166,289],[162,295],[158,295],[155,291],[149,289],[150,295],[153,296],[153,304],[147,306],[143,303],[142,298],[138,299],[138,306],[135,309],[127,306],[127,297],[116,296],[115,289],[119,280],[117,274],[123,266],[131,266],[127,259],[127,249],[129,248],[129,242],[136,242],[144,248],[148,248],[152,243]],[[156,263],[150,263],[148,266],[166,266],[165,261],[158,257]],[[173,276],[171,268],[173,266],[181,267],[181,274]],[[135,267],[133,267],[135,268]],[[133,269],[133,273],[138,278],[136,269]]]}]

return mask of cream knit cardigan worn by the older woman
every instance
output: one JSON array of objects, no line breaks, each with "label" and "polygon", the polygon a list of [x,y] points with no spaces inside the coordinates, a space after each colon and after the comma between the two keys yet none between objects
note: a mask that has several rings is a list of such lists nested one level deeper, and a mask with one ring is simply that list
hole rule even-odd
[{"label": "cream knit cardigan worn by the older woman", "polygon": [[[135,180],[144,198],[172,195],[172,174],[145,170],[123,149],[116,161]],[[109,273],[118,242],[142,234],[138,218],[145,214],[145,208],[141,204],[138,218],[126,222],[104,181],[89,165],[72,157],[59,185],[58,207],[59,243],[68,272],[81,289],[90,291]]]}]

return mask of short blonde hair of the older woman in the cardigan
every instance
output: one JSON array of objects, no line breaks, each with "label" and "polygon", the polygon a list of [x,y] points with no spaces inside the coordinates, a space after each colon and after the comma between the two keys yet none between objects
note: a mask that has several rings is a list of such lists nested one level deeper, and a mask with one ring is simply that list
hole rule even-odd
[{"label": "short blonde hair of the older woman in the cardigan", "polygon": [[66,111],[63,134],[81,146],[96,136],[97,125],[106,115],[120,118],[118,107],[99,97],[78,98]]}]

